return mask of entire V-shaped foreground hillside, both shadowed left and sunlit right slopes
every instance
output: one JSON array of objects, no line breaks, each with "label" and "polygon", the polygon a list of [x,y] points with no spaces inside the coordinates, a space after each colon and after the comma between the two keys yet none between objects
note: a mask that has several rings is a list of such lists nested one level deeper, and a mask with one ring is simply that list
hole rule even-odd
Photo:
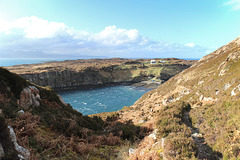
[{"label": "entire V-shaped foreground hillside, both shadowed left and sunlit right slopes", "polygon": [[238,160],[239,70],[237,38],[133,106],[83,116],[53,90],[1,68],[0,153],[2,146],[5,159]]}]

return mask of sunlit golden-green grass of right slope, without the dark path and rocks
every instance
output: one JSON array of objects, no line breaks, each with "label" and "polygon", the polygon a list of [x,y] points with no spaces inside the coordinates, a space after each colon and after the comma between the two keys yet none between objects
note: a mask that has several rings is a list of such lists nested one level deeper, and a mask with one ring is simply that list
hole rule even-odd
[{"label": "sunlit golden-green grass of right slope, without the dark path and rocks", "polygon": [[[193,126],[199,128],[213,151],[221,153],[224,159],[240,159],[240,93],[231,96],[233,88],[240,83],[239,51],[237,39],[145,94],[135,103],[134,108],[140,108],[145,111],[145,115],[154,117],[158,141],[161,142],[162,137],[166,138],[162,151],[165,157],[189,159],[197,155],[197,148],[190,145],[193,139],[189,135],[189,128],[183,123],[183,105],[177,101],[179,99],[191,105]],[[231,59],[231,54],[239,57]],[[221,65],[223,62],[225,65]],[[225,74],[219,76],[220,71],[225,69]],[[206,97],[205,100],[200,99],[201,96]],[[212,100],[207,100],[209,97]],[[168,105],[163,105],[163,102]],[[146,112],[149,106],[153,108],[152,112]],[[178,154],[170,154],[174,152]],[[141,151],[136,152],[139,153]]]}]

